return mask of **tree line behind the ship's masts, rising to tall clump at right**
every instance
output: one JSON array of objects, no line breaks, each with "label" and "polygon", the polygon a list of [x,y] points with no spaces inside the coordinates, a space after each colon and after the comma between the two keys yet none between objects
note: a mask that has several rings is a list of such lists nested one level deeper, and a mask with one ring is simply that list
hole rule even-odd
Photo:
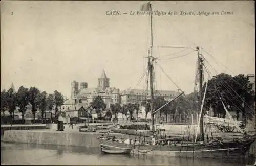
[{"label": "tree line behind the ship's masts, rising to tall clump at right", "polygon": [[[203,87],[203,92],[205,86],[206,84]],[[164,114],[167,120],[168,114],[173,114],[172,118],[174,119],[175,114],[196,113],[200,110],[198,97],[198,92],[183,95],[176,101],[163,107],[160,111],[160,116]],[[206,111],[212,109],[214,117],[225,118],[226,111],[221,103],[220,97],[228,108],[228,111],[237,112],[237,120],[239,119],[240,112],[242,113],[243,121],[246,120],[246,117],[251,119],[255,114],[255,92],[250,85],[249,78],[243,74],[232,77],[231,75],[221,73],[208,81],[204,108]],[[167,101],[164,100],[164,97],[157,97],[154,99],[154,109],[157,110],[166,103]],[[150,111],[150,99],[142,101],[141,105],[145,107],[146,118]],[[139,104],[124,104],[123,106],[114,104],[110,108],[115,117],[119,112],[123,115],[127,115],[127,112],[129,112],[132,118],[134,110],[138,113]]]}]

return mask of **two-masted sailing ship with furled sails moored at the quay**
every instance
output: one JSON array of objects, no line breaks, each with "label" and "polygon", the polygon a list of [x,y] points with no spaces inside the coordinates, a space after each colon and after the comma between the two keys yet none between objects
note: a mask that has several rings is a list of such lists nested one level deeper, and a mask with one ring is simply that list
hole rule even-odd
[{"label": "two-masted sailing ship with furled sails moored at the quay", "polygon": [[[244,130],[242,130],[237,123],[234,123],[244,137],[238,138],[236,140],[222,141],[217,139],[212,139],[211,141],[207,141],[205,139],[204,134],[204,121],[203,121],[203,104],[205,99],[205,94],[207,90],[207,83],[205,86],[205,90],[203,92],[203,57],[201,54],[201,49],[197,47],[198,52],[198,74],[199,74],[199,106],[200,116],[198,121],[198,126],[200,126],[200,134],[198,137],[198,130],[196,135],[190,138],[187,137],[169,137],[165,139],[157,139],[155,132],[155,118],[154,115],[160,111],[164,106],[169,103],[172,103],[176,99],[178,99],[183,93],[181,92],[176,98],[170,100],[162,107],[157,110],[154,110],[154,90],[153,90],[153,62],[155,62],[156,58],[152,55],[153,48],[153,35],[152,35],[152,5],[151,2],[147,4],[147,7],[150,11],[150,21],[151,21],[151,47],[150,54],[148,55],[148,72],[149,72],[149,81],[150,81],[150,110],[151,110],[151,131],[153,136],[148,135],[149,138],[145,139],[145,135],[143,133],[139,133],[143,136],[141,140],[135,138],[133,139],[119,139],[115,136],[100,136],[98,137],[101,148],[115,150],[115,149],[132,149],[132,154],[146,154],[146,155],[164,155],[164,156],[175,156],[175,157],[192,157],[192,158],[233,158],[233,157],[246,157],[249,152],[250,145],[256,140],[255,135],[248,135]],[[222,99],[220,98],[221,102]],[[223,107],[228,116],[229,112],[222,102]],[[232,117],[230,116],[230,120]],[[113,130],[117,131],[117,130]],[[132,135],[132,133],[126,133]],[[135,134],[136,135],[136,134]],[[192,141],[190,140],[192,139]],[[198,141],[199,140],[199,141]],[[186,141],[186,143],[184,143]]]}]

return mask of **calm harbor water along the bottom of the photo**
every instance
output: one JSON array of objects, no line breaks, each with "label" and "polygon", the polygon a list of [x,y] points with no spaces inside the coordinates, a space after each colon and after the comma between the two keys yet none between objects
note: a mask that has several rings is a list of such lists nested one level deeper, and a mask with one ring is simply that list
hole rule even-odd
[{"label": "calm harbor water along the bottom of the photo", "polygon": [[[169,156],[104,155],[99,148],[1,142],[1,164],[6,165],[232,165],[221,159]],[[248,162],[247,162],[248,164]]]}]

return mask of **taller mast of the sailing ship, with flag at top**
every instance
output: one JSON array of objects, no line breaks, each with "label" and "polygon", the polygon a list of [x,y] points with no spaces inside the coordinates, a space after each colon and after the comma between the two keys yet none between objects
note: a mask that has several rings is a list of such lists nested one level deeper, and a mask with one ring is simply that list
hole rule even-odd
[{"label": "taller mast of the sailing ship, with flag at top", "polygon": [[149,72],[150,72],[150,93],[151,93],[151,98],[150,98],[150,109],[151,109],[151,130],[154,132],[155,127],[154,127],[154,92],[153,92],[153,62],[154,62],[154,57],[153,57],[153,31],[152,31],[152,6],[150,2],[150,29],[151,29],[151,46],[150,46],[150,55],[148,55],[148,67],[149,67]]}]

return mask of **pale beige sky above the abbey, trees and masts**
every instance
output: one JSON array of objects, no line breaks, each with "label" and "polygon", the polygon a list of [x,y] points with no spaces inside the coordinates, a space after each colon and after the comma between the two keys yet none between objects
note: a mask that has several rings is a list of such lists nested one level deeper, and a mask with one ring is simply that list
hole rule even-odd
[{"label": "pale beige sky above the abbey, trees and masts", "polygon": [[[73,80],[96,87],[103,69],[111,87],[143,88],[150,17],[136,11],[144,3],[2,1],[1,90],[13,83],[16,90],[35,86],[70,98]],[[153,1],[152,9],[167,13],[153,13],[152,21],[158,90],[177,90],[177,84],[185,93],[193,91],[196,46],[203,48],[210,76],[255,74],[253,1]],[[110,11],[120,14],[107,15]],[[197,15],[200,11],[219,15]]]}]

